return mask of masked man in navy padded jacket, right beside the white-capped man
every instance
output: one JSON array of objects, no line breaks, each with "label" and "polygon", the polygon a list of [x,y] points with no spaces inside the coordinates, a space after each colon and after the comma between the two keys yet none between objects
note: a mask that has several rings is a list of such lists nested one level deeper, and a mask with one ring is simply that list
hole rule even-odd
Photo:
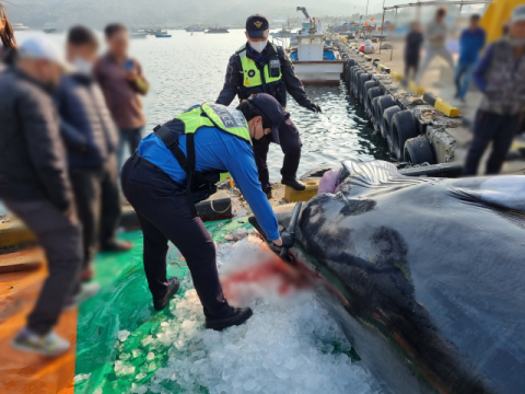
[{"label": "masked man in navy padded jacket, right beside the white-capped man", "polygon": [[112,251],[131,247],[130,243],[115,239],[120,221],[116,163],[118,130],[92,76],[97,47],[97,39],[89,28],[74,26],[69,31],[67,55],[75,71],[62,77],[55,93],[77,211],[83,228],[81,279],[84,281],[93,276],[91,262],[98,244]]}]

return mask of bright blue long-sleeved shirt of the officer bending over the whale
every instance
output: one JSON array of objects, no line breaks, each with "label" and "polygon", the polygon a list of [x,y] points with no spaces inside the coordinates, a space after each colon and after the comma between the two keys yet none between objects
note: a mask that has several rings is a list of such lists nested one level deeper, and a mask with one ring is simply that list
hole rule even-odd
[{"label": "bright blue long-sleeved shirt of the officer bending over the whale", "polygon": [[[180,136],[178,143],[187,154],[186,136]],[[176,183],[186,184],[186,172],[155,134],[142,139],[139,155],[155,164]],[[214,127],[203,127],[195,134],[195,157],[197,171],[230,172],[268,239],[279,239],[277,218],[260,187],[254,151],[247,142]]]}]

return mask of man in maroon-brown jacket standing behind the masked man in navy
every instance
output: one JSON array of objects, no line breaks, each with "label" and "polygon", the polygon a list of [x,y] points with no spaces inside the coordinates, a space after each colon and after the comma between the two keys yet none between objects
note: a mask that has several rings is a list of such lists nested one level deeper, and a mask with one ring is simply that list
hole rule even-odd
[{"label": "man in maroon-brown jacket standing behind the masked man in navy", "polygon": [[120,169],[126,146],[130,153],[133,153],[142,138],[145,117],[139,94],[145,95],[149,84],[139,61],[128,56],[129,34],[126,26],[119,23],[109,24],[104,33],[107,54],[97,61],[95,77],[120,131],[117,151]]}]

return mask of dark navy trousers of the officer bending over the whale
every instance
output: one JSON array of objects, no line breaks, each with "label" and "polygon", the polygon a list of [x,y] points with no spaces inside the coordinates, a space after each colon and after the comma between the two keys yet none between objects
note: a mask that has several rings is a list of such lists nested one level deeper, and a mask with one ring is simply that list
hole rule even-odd
[{"label": "dark navy trousers of the officer bending over the whale", "polygon": [[178,247],[191,273],[208,317],[224,316],[224,299],[215,262],[215,245],[200,218],[192,218],[184,190],[160,169],[128,159],[121,172],[122,192],[135,208],[144,237],[144,271],[153,298],[167,291],[167,241]]}]

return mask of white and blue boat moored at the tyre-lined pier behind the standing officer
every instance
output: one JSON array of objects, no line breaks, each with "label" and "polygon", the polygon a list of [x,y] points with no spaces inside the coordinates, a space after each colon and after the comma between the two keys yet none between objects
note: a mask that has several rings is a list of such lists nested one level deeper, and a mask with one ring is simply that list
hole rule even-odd
[{"label": "white and blue boat moored at the tyre-lined pier behind the standing officer", "polygon": [[301,34],[298,46],[288,50],[303,84],[339,84],[345,60],[339,50],[325,45],[324,34]]}]

